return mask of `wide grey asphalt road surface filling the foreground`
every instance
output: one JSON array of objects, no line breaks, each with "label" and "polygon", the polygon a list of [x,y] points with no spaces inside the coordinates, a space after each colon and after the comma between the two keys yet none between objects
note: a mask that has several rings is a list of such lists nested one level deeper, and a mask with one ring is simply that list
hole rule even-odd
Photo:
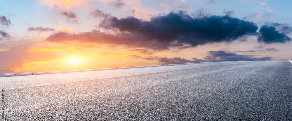
[{"label": "wide grey asphalt road surface filling the foreground", "polygon": [[1,77],[6,120],[292,120],[292,64],[223,62]]}]

